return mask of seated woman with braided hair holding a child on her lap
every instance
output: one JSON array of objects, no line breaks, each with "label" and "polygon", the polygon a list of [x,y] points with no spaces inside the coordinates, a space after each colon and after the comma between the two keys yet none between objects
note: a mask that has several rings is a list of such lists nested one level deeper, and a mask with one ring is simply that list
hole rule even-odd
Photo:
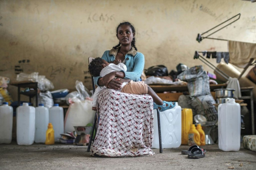
[{"label": "seated woman with braided hair holding a child on her lap", "polygon": [[[120,60],[127,71],[113,71],[95,77],[97,86],[106,86],[98,95],[99,122],[92,155],[123,157],[153,155],[153,100],[150,95],[122,93],[123,79],[138,81],[144,69],[144,55],[137,52],[135,29],[129,22],[117,27],[119,44],[105,51],[102,59]],[[115,77],[120,77],[116,78]]]}]

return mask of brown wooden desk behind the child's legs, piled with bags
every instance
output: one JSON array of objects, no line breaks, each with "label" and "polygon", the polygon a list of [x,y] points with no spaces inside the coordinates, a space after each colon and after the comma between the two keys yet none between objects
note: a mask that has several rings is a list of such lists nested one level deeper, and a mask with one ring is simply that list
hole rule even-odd
[{"label": "brown wooden desk behind the child's legs, piled with bags", "polygon": [[[169,85],[169,84],[162,84],[162,85],[149,85],[157,95],[165,101],[178,101],[180,95],[184,94],[184,92],[188,93],[188,88],[186,86],[177,86],[177,85]],[[210,84],[211,95],[215,99],[215,92],[214,89],[217,88],[226,88],[227,84]],[[216,99],[215,99],[216,100]]]}]

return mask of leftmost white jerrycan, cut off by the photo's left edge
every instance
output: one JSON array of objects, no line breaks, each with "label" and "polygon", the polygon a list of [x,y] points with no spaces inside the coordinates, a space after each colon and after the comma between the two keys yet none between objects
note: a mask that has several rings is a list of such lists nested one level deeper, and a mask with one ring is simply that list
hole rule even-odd
[{"label": "leftmost white jerrycan, cut off by the photo's left edge", "polygon": [[0,106],[0,144],[11,143],[13,130],[13,107],[8,102]]}]

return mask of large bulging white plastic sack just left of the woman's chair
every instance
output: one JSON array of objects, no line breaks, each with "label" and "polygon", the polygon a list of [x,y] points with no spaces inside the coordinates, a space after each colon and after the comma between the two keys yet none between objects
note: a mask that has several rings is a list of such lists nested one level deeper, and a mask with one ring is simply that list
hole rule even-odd
[{"label": "large bulging white plastic sack just left of the woman's chair", "polygon": [[70,103],[64,120],[65,131],[73,131],[74,126],[86,126],[93,123],[95,112],[91,110],[91,100],[81,101],[77,97],[73,97]]}]

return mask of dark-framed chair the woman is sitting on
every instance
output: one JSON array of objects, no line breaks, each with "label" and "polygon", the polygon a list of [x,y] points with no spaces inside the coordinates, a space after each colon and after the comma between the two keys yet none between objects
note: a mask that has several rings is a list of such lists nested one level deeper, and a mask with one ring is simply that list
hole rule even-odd
[{"label": "dark-framed chair the woman is sitting on", "polygon": [[[88,58],[89,63],[93,59],[94,59],[93,57],[89,57]],[[93,84],[93,93],[94,93],[95,92],[95,83],[94,83],[94,77],[93,76],[91,76],[91,83]],[[160,113],[159,113],[159,109],[157,109],[157,122],[158,122],[158,134],[159,134],[159,152],[162,153],[163,149],[162,149],[162,137],[161,137],[161,126],[160,126]],[[97,133],[96,124],[97,124],[97,112],[95,112],[93,128],[91,130],[91,136],[90,136],[87,152],[90,152],[91,142],[93,141],[93,132],[94,132],[94,130]]]}]

